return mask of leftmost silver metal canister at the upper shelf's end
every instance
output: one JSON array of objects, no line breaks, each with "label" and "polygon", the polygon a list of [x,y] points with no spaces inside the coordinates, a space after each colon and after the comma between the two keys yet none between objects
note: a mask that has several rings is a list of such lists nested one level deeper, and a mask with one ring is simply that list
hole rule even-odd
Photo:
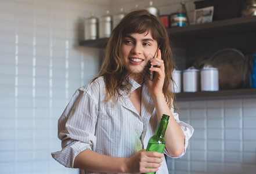
[{"label": "leftmost silver metal canister at the upper shelf's end", "polygon": [[84,22],[85,40],[97,39],[98,38],[98,18],[91,14],[91,17],[85,19]]}]

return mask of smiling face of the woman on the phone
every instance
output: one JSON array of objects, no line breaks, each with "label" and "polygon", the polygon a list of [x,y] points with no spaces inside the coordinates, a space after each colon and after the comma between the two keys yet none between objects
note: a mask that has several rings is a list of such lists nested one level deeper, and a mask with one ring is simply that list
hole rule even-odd
[{"label": "smiling face of the woman on the phone", "polygon": [[150,32],[125,35],[121,45],[122,63],[129,77],[143,78],[149,71],[148,61],[157,50],[157,41]]}]

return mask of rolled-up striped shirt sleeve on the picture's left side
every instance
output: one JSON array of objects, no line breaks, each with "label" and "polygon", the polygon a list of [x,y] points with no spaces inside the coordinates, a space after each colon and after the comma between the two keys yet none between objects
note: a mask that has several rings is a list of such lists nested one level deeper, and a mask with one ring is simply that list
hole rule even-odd
[{"label": "rolled-up striped shirt sleeve on the picture's left side", "polygon": [[52,153],[60,164],[73,168],[75,157],[86,149],[95,150],[97,104],[86,90],[78,89],[58,121],[62,150]]}]

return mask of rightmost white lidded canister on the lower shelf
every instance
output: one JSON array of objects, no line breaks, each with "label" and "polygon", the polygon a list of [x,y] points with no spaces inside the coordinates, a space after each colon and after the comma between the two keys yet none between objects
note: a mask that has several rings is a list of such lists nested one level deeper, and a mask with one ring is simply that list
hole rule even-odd
[{"label": "rightmost white lidded canister on the lower shelf", "polygon": [[218,68],[207,66],[201,70],[201,90],[202,91],[219,90]]}]

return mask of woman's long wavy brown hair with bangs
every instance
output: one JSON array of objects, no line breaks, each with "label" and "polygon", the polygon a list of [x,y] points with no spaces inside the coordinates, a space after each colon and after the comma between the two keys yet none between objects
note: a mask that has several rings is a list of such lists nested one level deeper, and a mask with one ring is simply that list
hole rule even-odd
[{"label": "woman's long wavy brown hair with bangs", "polygon": [[[121,96],[120,90],[129,92],[131,85],[128,77],[125,75],[124,65],[121,57],[121,44],[124,35],[132,33],[150,32],[153,39],[160,46],[161,57],[164,60],[165,79],[163,93],[168,106],[171,108],[174,101],[174,93],[171,92],[171,83],[173,84],[172,71],[174,70],[174,61],[172,59],[169,37],[163,23],[147,10],[135,10],[128,13],[112,31],[109,42],[107,43],[106,56],[104,57],[102,67],[98,77],[103,77],[107,90],[107,101],[117,99]],[[95,78],[95,79],[96,79]],[[95,81],[95,79],[92,80]]]}]

